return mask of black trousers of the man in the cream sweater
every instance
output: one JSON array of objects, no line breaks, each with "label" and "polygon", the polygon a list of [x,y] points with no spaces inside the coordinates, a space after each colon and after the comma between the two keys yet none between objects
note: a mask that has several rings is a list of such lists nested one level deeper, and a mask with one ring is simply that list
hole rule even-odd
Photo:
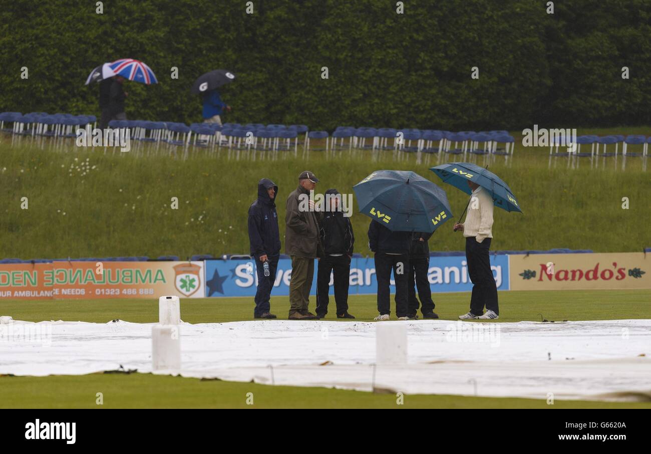
[{"label": "black trousers of the man in the cream sweater", "polygon": [[465,238],[465,260],[468,262],[468,274],[473,285],[473,294],[470,298],[470,311],[475,315],[484,314],[486,309],[499,315],[497,307],[497,285],[490,269],[491,238],[484,238],[480,243],[474,237]]}]

